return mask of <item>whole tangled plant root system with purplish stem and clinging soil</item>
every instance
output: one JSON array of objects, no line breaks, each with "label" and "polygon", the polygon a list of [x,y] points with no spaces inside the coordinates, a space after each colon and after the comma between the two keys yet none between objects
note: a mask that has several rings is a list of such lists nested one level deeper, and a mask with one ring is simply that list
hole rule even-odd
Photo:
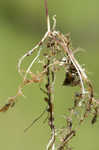
[{"label": "whole tangled plant root system with purplish stem and clinging soil", "polygon": [[[69,141],[71,141],[76,135],[82,122],[89,115],[92,116],[92,124],[97,121],[99,115],[99,101],[94,98],[93,85],[88,79],[85,70],[81,67],[74,56],[76,50],[71,46],[69,34],[65,35],[60,31],[55,30],[56,16],[53,17],[53,26],[51,28],[46,0],[45,8],[47,32],[34,48],[20,58],[18,72],[22,76],[22,83],[18,88],[16,96],[9,98],[8,103],[0,109],[0,112],[6,112],[10,107],[14,106],[18,96],[24,96],[22,90],[25,86],[35,83],[40,84],[40,90],[45,94],[44,101],[47,103],[47,108],[29,125],[29,127],[25,129],[25,131],[38,121],[45,112],[47,112],[51,137],[46,149],[71,150],[68,146]],[[44,49],[46,49],[46,52]],[[36,57],[32,60],[26,70],[23,68],[21,69],[23,60],[27,56],[29,57],[32,55],[34,51],[37,51]],[[42,59],[40,59],[41,55]],[[39,73],[34,73],[32,71],[34,63],[39,63],[39,65],[41,65],[41,71]],[[54,124],[54,86],[57,79],[56,73],[59,72],[61,68],[64,69],[63,86],[78,86],[79,91],[74,93],[73,106],[72,108],[69,108],[69,111],[67,110],[69,115],[66,117],[66,125],[63,129],[59,129],[60,132],[58,132]],[[41,87],[42,83],[43,85],[45,84],[43,86],[44,88]],[[73,118],[76,120],[76,126],[74,126]],[[57,145],[56,139],[58,135],[60,136],[60,141]]]}]

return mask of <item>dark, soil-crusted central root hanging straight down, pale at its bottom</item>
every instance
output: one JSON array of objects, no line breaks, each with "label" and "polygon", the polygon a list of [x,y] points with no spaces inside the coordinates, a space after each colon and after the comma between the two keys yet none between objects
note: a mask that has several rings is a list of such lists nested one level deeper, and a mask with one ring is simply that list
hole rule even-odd
[{"label": "dark, soil-crusted central root hanging straight down, pale at its bottom", "polygon": [[[47,150],[54,150],[55,149],[55,126],[54,126],[54,112],[53,112],[53,96],[52,96],[52,88],[54,88],[54,72],[50,70],[48,67],[50,65],[50,57],[47,60],[46,68],[46,76],[47,76],[47,84],[45,85],[47,89],[47,98],[45,98],[46,102],[48,103],[48,121],[49,121],[49,126],[51,129],[51,138],[47,144]],[[51,76],[52,75],[52,82],[51,82]]]}]

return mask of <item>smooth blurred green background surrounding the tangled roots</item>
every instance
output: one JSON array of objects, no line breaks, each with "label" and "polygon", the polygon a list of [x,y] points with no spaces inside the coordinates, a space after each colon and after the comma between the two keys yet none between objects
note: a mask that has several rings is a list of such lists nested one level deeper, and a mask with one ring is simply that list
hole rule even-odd
[{"label": "smooth blurred green background surrounding the tangled roots", "polygon": [[[21,77],[17,72],[18,59],[31,49],[46,31],[43,0],[0,1],[0,104],[16,94]],[[86,64],[96,97],[99,97],[99,1],[48,0],[49,14],[57,16],[57,30],[71,33],[74,47],[86,50],[78,60]],[[29,59],[27,59],[28,61]],[[62,87],[58,75],[55,96],[56,125],[61,127],[66,108],[72,104],[73,90]],[[44,95],[38,85],[24,89],[26,98],[20,98],[13,109],[0,114],[0,149],[43,150],[49,139],[49,127],[44,117],[27,133],[24,128],[45,108]],[[81,126],[71,145],[76,150],[99,150],[99,121]]]}]

